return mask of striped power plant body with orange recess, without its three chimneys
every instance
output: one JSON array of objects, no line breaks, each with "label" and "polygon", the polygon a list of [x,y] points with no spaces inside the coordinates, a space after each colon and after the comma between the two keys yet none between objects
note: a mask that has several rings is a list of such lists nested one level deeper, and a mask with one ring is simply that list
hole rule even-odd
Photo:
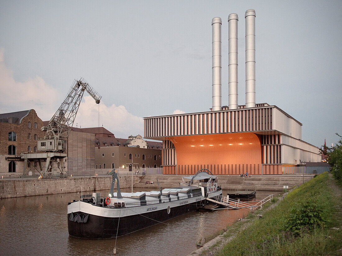
[{"label": "striped power plant body with orange recess, without its three chimneys", "polygon": [[319,161],[297,120],[266,103],[244,108],[144,118],[144,136],[163,140],[164,173],[281,174],[283,165]]}]

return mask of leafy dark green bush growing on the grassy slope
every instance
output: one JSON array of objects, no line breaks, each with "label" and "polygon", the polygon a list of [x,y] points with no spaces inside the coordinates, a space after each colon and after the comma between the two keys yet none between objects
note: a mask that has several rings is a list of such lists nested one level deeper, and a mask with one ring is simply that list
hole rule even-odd
[{"label": "leafy dark green bush growing on the grassy slope", "polygon": [[298,236],[303,231],[312,231],[315,227],[326,227],[328,223],[324,205],[313,201],[299,202],[290,211],[285,230]]}]

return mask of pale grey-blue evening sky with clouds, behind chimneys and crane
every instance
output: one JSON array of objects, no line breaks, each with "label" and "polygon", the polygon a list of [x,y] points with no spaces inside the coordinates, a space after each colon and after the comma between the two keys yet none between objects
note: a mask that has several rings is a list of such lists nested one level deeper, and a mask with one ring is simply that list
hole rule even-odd
[{"label": "pale grey-blue evening sky with clouds, behind chimneys and crane", "polygon": [[222,18],[222,105],[228,105],[228,15],[237,13],[238,104],[245,104],[245,11],[254,9],[256,103],[303,124],[302,140],[342,134],[342,1],[0,0],[0,113],[56,112],[75,79],[74,123],[117,138],[143,135],[143,117],[209,111],[213,17]]}]

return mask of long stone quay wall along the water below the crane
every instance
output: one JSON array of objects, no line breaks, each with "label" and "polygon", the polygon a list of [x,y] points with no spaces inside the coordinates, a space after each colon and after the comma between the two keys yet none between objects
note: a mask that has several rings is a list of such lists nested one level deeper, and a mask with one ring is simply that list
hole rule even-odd
[{"label": "long stone quay wall along the water below the crane", "polygon": [[[133,184],[140,178],[133,176]],[[120,188],[129,188],[131,176],[119,177]],[[111,176],[76,177],[65,179],[14,179],[0,181],[0,198],[41,196],[83,191],[110,189]]]}]

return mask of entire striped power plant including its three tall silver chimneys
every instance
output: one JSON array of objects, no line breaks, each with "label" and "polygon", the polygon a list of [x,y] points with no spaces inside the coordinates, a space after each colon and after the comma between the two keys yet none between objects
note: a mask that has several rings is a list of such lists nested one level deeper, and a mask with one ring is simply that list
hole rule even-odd
[{"label": "entire striped power plant including its three tall silver chimneys", "polygon": [[221,105],[221,18],[212,20],[212,109],[144,118],[144,137],[162,140],[164,174],[282,174],[283,167],[319,162],[302,141],[302,124],[267,103],[255,104],[255,11],[246,18],[246,104],[238,105],[237,22],[228,17],[229,106]]}]

